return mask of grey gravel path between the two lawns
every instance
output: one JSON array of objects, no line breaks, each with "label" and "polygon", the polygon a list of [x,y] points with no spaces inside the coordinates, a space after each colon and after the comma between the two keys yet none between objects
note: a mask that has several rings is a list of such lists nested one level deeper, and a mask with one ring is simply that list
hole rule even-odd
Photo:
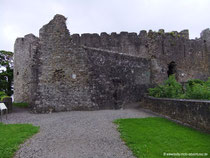
[{"label": "grey gravel path between the two lawns", "polygon": [[112,121],[148,116],[154,115],[135,109],[52,114],[16,111],[4,123],[40,126],[40,132],[21,145],[15,158],[134,158]]}]

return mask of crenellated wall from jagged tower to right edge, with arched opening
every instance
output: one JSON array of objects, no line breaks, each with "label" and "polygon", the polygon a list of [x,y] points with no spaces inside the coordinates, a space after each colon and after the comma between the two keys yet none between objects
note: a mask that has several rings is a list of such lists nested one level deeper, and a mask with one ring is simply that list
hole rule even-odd
[{"label": "crenellated wall from jagged tower to right edge, with arched opening", "polygon": [[[210,35],[206,35],[209,37]],[[180,82],[192,78],[207,79],[209,73],[208,50],[202,39],[190,40],[188,30],[164,33],[141,31],[120,34],[74,34],[72,43],[125,53],[131,56],[152,59],[152,83],[161,83],[168,78],[168,64],[176,63],[176,77]],[[210,40],[206,40],[209,43]],[[209,49],[209,48],[208,48]]]}]

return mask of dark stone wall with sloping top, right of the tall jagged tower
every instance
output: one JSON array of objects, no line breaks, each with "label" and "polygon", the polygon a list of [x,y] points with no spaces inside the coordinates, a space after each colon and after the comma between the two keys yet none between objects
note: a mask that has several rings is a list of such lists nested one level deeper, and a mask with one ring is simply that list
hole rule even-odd
[{"label": "dark stone wall with sloping top, right of the tall jagged tower", "polygon": [[150,86],[150,60],[93,48],[88,55],[91,100],[100,109],[139,101]]}]

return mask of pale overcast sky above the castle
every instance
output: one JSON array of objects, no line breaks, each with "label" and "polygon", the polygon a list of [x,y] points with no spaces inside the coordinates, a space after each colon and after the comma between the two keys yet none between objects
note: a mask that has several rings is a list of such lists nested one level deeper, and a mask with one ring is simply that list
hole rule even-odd
[{"label": "pale overcast sky above the castle", "polygon": [[68,18],[70,33],[189,29],[190,38],[210,27],[210,0],[0,0],[0,50],[33,33],[55,14]]}]

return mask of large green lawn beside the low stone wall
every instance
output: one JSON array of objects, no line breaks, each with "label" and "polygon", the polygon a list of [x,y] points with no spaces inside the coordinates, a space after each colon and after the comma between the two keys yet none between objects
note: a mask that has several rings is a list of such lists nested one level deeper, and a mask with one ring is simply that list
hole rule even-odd
[{"label": "large green lawn beside the low stone wall", "polygon": [[[210,157],[210,134],[159,117],[114,122],[118,124],[121,138],[138,158]],[[206,156],[164,156],[164,153],[204,153]]]}]

